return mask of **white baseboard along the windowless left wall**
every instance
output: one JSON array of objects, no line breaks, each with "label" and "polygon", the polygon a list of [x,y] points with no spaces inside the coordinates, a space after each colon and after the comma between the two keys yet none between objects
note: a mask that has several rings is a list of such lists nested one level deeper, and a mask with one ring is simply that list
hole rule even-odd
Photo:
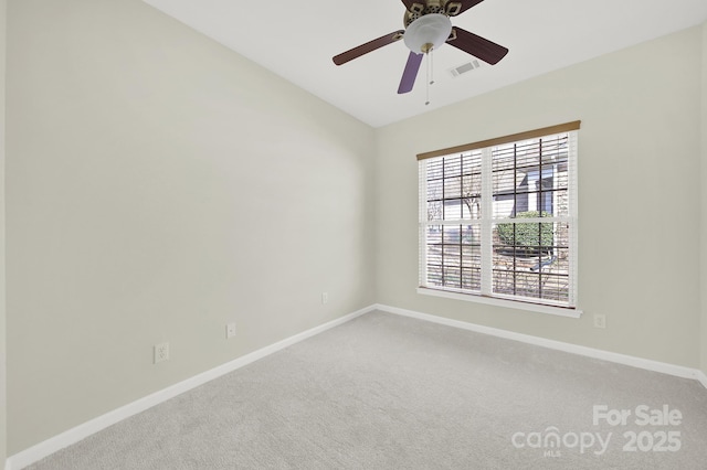
[{"label": "white baseboard along the windowless left wall", "polygon": [[23,469],[24,467],[28,467],[39,460],[42,460],[44,457],[56,452],[57,450],[68,447],[72,444],[78,442],[80,440],[85,439],[86,437],[96,434],[107,428],[108,426],[129,418],[133,415],[137,415],[138,413],[151,408],[155,405],[159,405],[160,403],[173,398],[177,395],[189,392],[190,389],[203,385],[207,382],[213,381],[214,378],[218,378],[252,362],[255,362],[258,359],[263,359],[287,346],[304,341],[307,338],[312,338],[315,334],[319,334],[334,327],[338,327],[339,324],[346,323],[373,310],[376,310],[376,306],[370,306],[347,316],[340,317],[336,320],[331,320],[327,323],[295,334],[294,337],[286,338],[274,344],[262,348],[257,351],[253,351],[252,353],[214,367],[210,371],[202,372],[201,374],[194,375],[193,377],[187,378],[186,381],[179,382],[159,392],[155,392],[151,395],[137,399],[133,403],[122,406],[120,408],[114,409],[113,412],[108,412],[105,415],[98,416],[97,418],[78,425],[57,436],[46,439],[43,442],[32,446],[29,449],[9,457],[6,461],[6,470]]}]

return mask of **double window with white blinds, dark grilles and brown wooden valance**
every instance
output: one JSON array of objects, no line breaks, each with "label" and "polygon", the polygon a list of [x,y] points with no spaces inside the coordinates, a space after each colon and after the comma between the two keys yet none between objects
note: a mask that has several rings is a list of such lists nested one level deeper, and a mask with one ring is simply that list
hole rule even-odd
[{"label": "double window with white blinds, dark grilles and brown wooden valance", "polygon": [[421,290],[576,307],[579,124],[418,156]]}]

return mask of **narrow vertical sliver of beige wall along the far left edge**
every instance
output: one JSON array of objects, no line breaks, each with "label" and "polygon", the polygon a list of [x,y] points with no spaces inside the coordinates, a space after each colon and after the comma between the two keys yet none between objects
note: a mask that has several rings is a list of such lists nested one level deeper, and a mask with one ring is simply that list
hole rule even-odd
[{"label": "narrow vertical sliver of beige wall along the far left edge", "polygon": [[4,58],[7,0],[0,0],[0,468],[8,455],[4,289]]}]

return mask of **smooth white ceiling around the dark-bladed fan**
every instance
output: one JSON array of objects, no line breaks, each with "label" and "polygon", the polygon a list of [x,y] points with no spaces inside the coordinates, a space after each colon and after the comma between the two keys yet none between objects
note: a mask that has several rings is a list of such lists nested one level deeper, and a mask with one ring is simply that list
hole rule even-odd
[{"label": "smooth white ceiling around the dark-bladed fan", "polygon": [[409,53],[402,41],[341,66],[331,62],[403,29],[400,0],[144,1],[373,127],[707,20],[706,0],[485,0],[452,23],[510,52],[454,78],[449,71],[473,57],[443,45],[425,106],[424,63],[414,89],[397,94]]}]

